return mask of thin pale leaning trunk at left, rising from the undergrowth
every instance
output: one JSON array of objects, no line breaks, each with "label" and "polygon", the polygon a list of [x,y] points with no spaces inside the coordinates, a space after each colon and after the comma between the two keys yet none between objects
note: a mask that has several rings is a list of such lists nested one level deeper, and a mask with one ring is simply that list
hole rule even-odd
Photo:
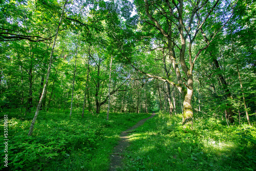
[{"label": "thin pale leaning trunk at left, rising from the undergrowth", "polygon": [[53,51],[54,51],[54,47],[55,47],[55,44],[56,44],[56,39],[57,39],[58,32],[59,32],[59,27],[60,27],[60,24],[61,24],[63,15],[64,15],[64,11],[65,11],[65,7],[66,7],[67,2],[68,2],[68,0],[65,1],[65,4],[63,6],[63,10],[62,10],[61,16],[59,18],[59,23],[58,23],[58,27],[57,27],[57,30],[56,30],[56,33],[55,33],[55,37],[54,37],[54,41],[53,41],[53,45],[52,45],[52,50],[51,50],[51,55],[50,55],[49,67],[48,67],[47,76],[46,76],[46,83],[45,83],[44,89],[42,90],[42,95],[40,97],[40,100],[39,100],[39,102],[37,104],[35,116],[34,116],[32,122],[31,122],[28,136],[31,136],[32,133],[33,133],[35,121],[36,121],[36,118],[38,116],[42,100],[44,99],[45,94],[46,94],[46,89],[47,89],[48,80],[49,80],[49,76],[50,76],[50,72],[51,72],[51,67],[52,67]]}]

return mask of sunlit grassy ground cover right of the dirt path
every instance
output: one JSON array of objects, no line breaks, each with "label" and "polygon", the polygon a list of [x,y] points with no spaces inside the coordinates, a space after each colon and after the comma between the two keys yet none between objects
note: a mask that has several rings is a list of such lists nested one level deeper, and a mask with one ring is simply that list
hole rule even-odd
[{"label": "sunlit grassy ground cover right of the dirt path", "polygon": [[134,130],[122,170],[255,170],[254,126],[198,117],[190,130],[181,121],[159,113]]}]

